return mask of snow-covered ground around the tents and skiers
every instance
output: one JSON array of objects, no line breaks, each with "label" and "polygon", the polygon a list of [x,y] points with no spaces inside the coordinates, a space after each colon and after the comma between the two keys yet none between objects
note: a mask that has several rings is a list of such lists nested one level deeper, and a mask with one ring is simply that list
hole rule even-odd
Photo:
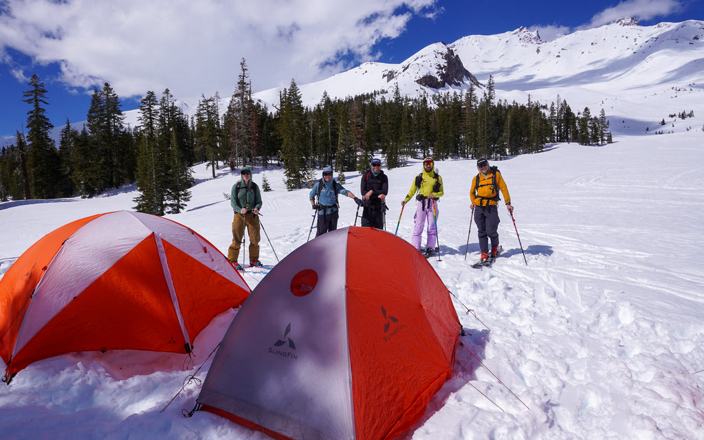
[{"label": "snow-covered ground around the tents and skiers", "polygon": [[[502,202],[503,256],[492,268],[470,268],[479,251],[474,225],[467,249],[474,161],[436,163],[446,196],[438,219],[442,261],[431,263],[458,298],[472,334],[465,346],[517,397],[460,347],[462,377],[445,384],[406,439],[704,438],[704,372],[697,373],[704,370],[701,122],[689,132],[619,135],[608,146],[557,144],[495,163],[508,182],[527,265]],[[388,172],[391,232],[418,172],[417,162]],[[209,175],[196,167],[187,211],[168,217],[226,252],[232,210],[223,193],[235,176]],[[255,182],[263,175],[275,190],[263,194],[262,223],[283,258],[308,237],[308,191],[285,191],[281,170],[256,169]],[[346,177],[357,194],[359,175]],[[90,200],[1,203],[0,276],[47,232],[129,210],[136,194],[130,187]],[[339,226],[352,225],[356,205],[340,203]],[[406,212],[398,235],[410,241],[412,227]],[[275,263],[264,234],[260,244],[263,262]],[[263,275],[244,277],[254,288]],[[234,314],[218,317],[196,341],[202,367],[180,355],[126,351],[30,365],[0,386],[0,437],[268,439],[210,413],[183,417],[199,393],[196,382],[160,412],[196,368],[205,377],[210,360],[203,360]]]}]

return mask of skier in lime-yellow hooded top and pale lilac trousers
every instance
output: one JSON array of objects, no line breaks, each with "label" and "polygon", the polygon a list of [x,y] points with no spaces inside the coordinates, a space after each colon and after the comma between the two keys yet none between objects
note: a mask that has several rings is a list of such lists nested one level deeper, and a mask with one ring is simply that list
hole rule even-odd
[{"label": "skier in lime-yellow hooded top and pale lilac trousers", "polygon": [[[416,192],[418,193],[417,196],[415,195]],[[427,221],[428,230],[425,244],[425,256],[427,257],[433,256],[438,251],[436,249],[438,233],[435,229],[435,223],[440,214],[438,201],[443,194],[442,177],[435,169],[433,159],[423,159],[423,172],[413,179],[408,196],[401,201],[401,206],[406,205],[413,196],[418,201],[415,207],[415,227],[413,228],[413,238],[410,240],[410,244],[413,244],[415,249],[421,251],[420,241],[423,234],[423,226]]]}]

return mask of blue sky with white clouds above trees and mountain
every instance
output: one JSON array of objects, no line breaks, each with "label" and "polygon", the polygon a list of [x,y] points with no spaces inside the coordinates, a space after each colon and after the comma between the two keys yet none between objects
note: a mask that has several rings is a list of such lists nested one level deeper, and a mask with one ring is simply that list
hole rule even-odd
[{"label": "blue sky with white clouds above trees and mountain", "polygon": [[525,26],[543,39],[634,16],[704,20],[702,0],[0,0],[0,146],[24,130],[33,74],[58,126],[85,120],[108,82],[122,110],[164,89],[196,106],[227,98],[242,58],[255,92],[329,77],[365,61],[401,63],[428,44]]}]

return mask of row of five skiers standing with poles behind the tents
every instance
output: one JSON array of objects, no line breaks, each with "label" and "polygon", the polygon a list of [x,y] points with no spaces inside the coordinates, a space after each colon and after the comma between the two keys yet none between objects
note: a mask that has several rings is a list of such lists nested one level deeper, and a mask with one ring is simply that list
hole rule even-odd
[{"label": "row of five skiers standing with poles behind the tents", "polygon": [[[508,188],[498,168],[489,166],[489,161],[486,158],[479,158],[477,170],[479,172],[472,179],[470,187],[470,209],[474,213],[474,223],[477,225],[479,250],[482,253],[481,260],[486,261],[493,260],[498,253],[500,191],[511,215],[513,215],[513,206]],[[337,229],[339,195],[353,199],[360,208],[363,208],[363,227],[384,229],[387,194],[389,194],[389,178],[384,174],[382,161],[378,158],[372,159],[370,168],[362,175],[360,181],[361,199],[333,179],[332,168],[323,168],[322,178],[315,182],[308,196],[310,206],[318,215],[318,232],[315,237]],[[422,172],[414,177],[406,198],[401,201],[401,213],[403,213],[406,203],[415,197],[417,203],[411,244],[418,251],[425,253],[427,257],[433,256],[439,251],[437,246],[438,202],[444,194],[442,177],[436,170],[433,159],[425,158]],[[249,167],[241,169],[241,179],[232,186],[230,203],[234,210],[234,220],[232,220],[232,244],[227,251],[227,259],[235,269],[242,269],[237,258],[246,227],[249,232],[249,264],[260,266],[262,263],[259,261],[260,223],[258,215],[259,209],[262,207],[262,199],[259,187],[251,180]],[[422,232],[426,225],[426,246],[425,251],[422,251]],[[491,248],[489,247],[490,243]]]}]

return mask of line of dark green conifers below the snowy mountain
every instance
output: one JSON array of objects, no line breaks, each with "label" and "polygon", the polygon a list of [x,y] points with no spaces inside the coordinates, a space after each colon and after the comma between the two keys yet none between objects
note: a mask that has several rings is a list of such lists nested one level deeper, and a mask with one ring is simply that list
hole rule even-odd
[{"label": "line of dark green conifers below the snowy mountain", "polygon": [[[37,75],[23,94],[27,131],[0,150],[0,200],[92,197],[108,189],[136,184],[134,208],[164,215],[184,210],[194,184],[191,167],[206,163],[216,170],[244,165],[283,165],[287,189],[311,184],[313,170],[332,166],[363,172],[373,156],[386,168],[410,158],[506,156],[542,151],[554,142],[593,145],[611,142],[603,109],[573,113],[567,101],[546,104],[496,100],[494,80],[463,92],[390,98],[377,91],[303,106],[295,80],[270,109],[252,98],[244,58],[234,93],[222,107],[219,94],[201,95],[194,115],[186,115],[165,89],[146,92],[136,127],[124,122],[120,99],[110,84],[94,88],[86,123],[68,120],[56,142],[46,116],[48,91]],[[225,108],[221,112],[221,108]],[[223,113],[223,114],[221,114]]]}]

